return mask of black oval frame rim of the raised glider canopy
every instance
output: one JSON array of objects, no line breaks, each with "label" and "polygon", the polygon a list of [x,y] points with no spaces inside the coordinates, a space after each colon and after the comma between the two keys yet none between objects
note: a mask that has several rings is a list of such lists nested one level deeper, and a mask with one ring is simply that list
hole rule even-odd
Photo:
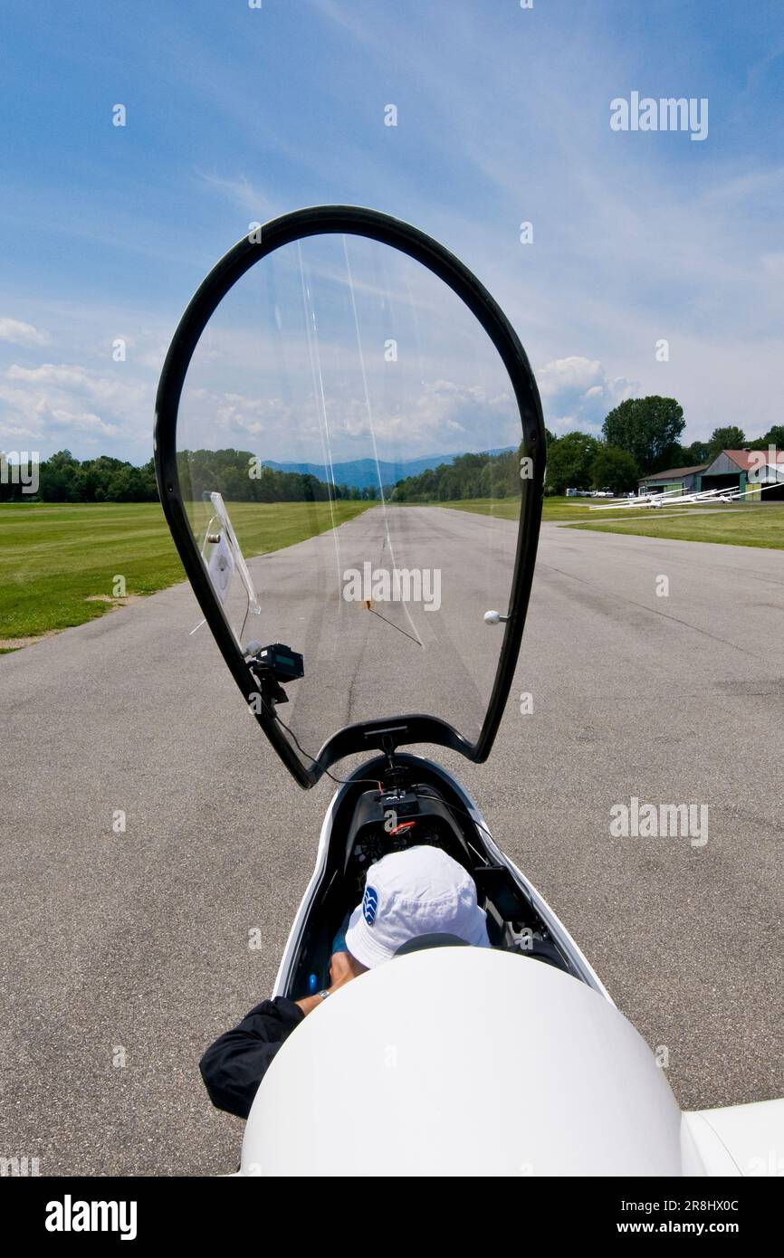
[{"label": "black oval frame rim of the raised glider canopy", "polygon": [[[259,694],[259,684],[215,598],[188,520],[177,473],[176,426],[185,376],[201,333],[223,298],[250,267],[286,244],[322,234],[365,237],[390,245],[427,267],[476,316],[495,345],[515,392],[522,425],[522,450],[530,459],[531,474],[526,478],[522,493],[508,619],[490,702],[476,743],[437,716],[409,713],[345,726],[327,738],[315,759],[307,756],[310,764],[303,762],[278,721],[274,706]],[[396,747],[429,742],[451,747],[474,762],[487,760],[512,683],[529,606],[541,521],[546,443],[539,389],[526,352],[503,311],[459,258],[410,224],[361,206],[311,206],[271,220],[260,229],[249,231],[229,249],[196,289],[169,346],[155,411],[155,473],[164,515],[182,566],[234,681],[294,780],[307,789],[344,756],[374,750],[389,751],[390,745]]]}]

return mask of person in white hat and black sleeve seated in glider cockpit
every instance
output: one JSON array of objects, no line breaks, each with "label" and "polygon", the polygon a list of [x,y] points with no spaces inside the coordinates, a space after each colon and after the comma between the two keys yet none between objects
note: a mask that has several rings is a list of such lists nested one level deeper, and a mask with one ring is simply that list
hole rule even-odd
[{"label": "person in white hat and black sleeve seated in glider cockpit", "polygon": [[369,869],[362,903],[333,941],[326,990],[302,1000],[263,1000],[208,1048],[200,1069],[213,1105],[247,1118],[269,1063],[302,1019],[357,975],[401,949],[408,951],[406,945],[423,936],[490,947],[473,878],[432,847],[393,852]]}]

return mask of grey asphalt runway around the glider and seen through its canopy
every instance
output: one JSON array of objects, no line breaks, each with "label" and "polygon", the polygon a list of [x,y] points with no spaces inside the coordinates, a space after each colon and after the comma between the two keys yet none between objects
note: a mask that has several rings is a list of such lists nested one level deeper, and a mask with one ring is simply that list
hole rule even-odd
[{"label": "grey asphalt runway around the glider and seen through its canopy", "polygon": [[[376,699],[380,715],[399,711],[409,668],[423,708],[469,721],[483,698],[484,673],[474,689],[468,674],[501,630],[477,611],[513,528],[400,512],[406,557],[417,530],[437,528],[422,556],[443,565],[452,615],[414,608],[413,624],[371,626],[347,606],[340,642],[360,664],[347,688],[330,674],[321,699],[291,704],[303,737],[341,703],[352,720]],[[341,561],[361,554],[352,530],[379,530],[383,550],[379,517],[342,526]],[[281,632],[300,615],[326,667],[323,547],[250,567],[282,590]],[[286,585],[294,560],[313,575],[298,591]],[[686,1108],[784,1096],[783,613],[779,551],[544,526],[495,751],[477,766],[438,754],[666,1049]],[[180,585],[0,657],[0,1155],[39,1157],[42,1174],[213,1174],[239,1160],[243,1123],[210,1107],[198,1059],[268,993],[335,786],[291,781],[206,629],[190,634],[199,618]],[[400,628],[430,635],[427,649]],[[708,842],[612,838],[610,809],[632,796],[707,805]],[[257,927],[260,950],[248,946]]]}]

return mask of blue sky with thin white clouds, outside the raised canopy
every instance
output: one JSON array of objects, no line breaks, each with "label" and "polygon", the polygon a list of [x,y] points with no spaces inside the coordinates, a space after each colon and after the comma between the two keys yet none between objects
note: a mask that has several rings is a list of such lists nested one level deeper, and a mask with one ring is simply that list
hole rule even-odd
[{"label": "blue sky with thin white clouds, outside the raised canopy", "polygon": [[[765,0],[6,8],[0,448],[148,458],[200,279],[249,221],[326,201],[458,253],[556,431],[661,392],[686,439],[761,434],[784,421],[780,18]],[[707,138],[612,131],[633,91],[707,98]]]}]

